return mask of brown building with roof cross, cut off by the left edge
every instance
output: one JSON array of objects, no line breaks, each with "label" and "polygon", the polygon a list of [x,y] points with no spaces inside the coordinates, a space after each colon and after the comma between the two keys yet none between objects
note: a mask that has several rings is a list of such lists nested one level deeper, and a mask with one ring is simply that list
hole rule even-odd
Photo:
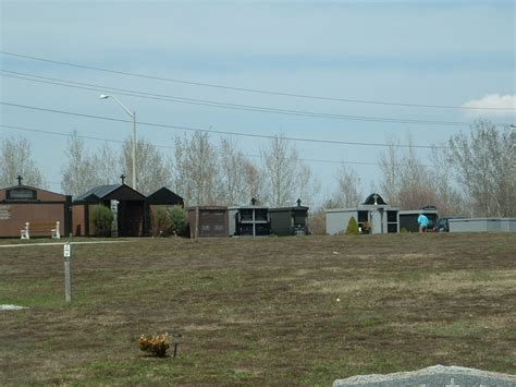
[{"label": "brown building with roof cross, cut off by the left edge", "polygon": [[59,221],[59,234],[72,230],[72,196],[22,184],[0,189],[0,238],[20,238],[29,223],[30,238],[51,237]]}]

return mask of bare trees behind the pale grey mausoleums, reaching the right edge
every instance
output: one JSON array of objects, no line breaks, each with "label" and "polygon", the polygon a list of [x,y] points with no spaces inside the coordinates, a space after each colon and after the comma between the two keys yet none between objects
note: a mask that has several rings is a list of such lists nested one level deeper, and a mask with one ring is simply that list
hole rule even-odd
[{"label": "bare trees behind the pale grey mausoleums, reaching the right edge", "polygon": [[[441,216],[516,216],[516,132],[497,129],[479,120],[470,131],[452,135],[443,146],[434,146],[422,159],[408,138],[408,146],[392,142],[380,154],[379,192],[402,209],[435,205]],[[342,167],[336,173],[337,190],[325,207],[355,207],[360,178]]]}]

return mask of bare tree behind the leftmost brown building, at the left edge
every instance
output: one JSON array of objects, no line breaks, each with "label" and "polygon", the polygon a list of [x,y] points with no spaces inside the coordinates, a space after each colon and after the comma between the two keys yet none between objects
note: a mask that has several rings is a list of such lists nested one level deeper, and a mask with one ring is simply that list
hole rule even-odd
[{"label": "bare tree behind the leftmost brown building, at the left edge", "polygon": [[3,138],[0,148],[0,186],[15,185],[17,176],[23,184],[46,188],[41,172],[36,167],[30,144],[26,138]]}]

